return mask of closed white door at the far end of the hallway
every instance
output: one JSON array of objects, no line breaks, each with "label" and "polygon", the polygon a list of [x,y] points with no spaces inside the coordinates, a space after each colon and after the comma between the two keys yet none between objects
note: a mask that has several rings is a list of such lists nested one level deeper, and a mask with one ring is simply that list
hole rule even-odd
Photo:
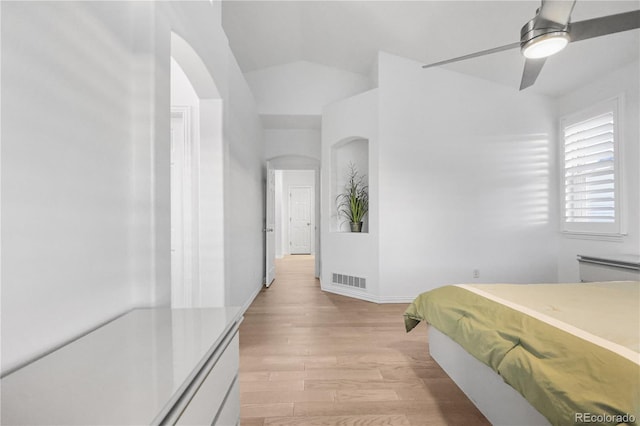
[{"label": "closed white door at the far end of the hallway", "polygon": [[289,188],[289,251],[311,253],[311,187]]}]

